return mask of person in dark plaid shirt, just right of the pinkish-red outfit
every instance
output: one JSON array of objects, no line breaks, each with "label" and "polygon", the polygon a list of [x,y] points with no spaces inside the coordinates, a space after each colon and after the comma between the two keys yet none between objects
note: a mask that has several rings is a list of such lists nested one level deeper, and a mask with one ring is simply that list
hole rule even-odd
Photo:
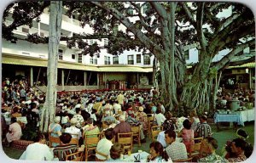
[{"label": "person in dark plaid shirt, just right of the pinkish-red outfit", "polygon": [[195,138],[207,138],[212,136],[212,128],[207,124],[207,115],[201,115],[200,123],[195,129]]}]

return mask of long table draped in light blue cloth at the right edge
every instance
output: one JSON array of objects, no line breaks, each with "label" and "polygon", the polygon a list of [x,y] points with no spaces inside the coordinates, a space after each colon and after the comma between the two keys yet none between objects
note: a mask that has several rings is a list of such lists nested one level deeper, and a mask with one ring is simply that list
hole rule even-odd
[{"label": "long table draped in light blue cloth at the right edge", "polygon": [[219,122],[235,122],[235,126],[241,125],[244,126],[245,121],[254,121],[255,115],[254,110],[242,110],[242,111],[236,111],[232,112],[230,114],[214,114],[214,122],[217,125]]}]

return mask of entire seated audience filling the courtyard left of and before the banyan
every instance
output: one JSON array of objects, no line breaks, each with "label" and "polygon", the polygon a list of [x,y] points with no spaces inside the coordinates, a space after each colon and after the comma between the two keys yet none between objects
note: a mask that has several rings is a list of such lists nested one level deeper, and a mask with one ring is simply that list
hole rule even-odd
[{"label": "entire seated audience filling the courtyard left of and before the banyan", "polygon": [[[2,126],[6,129],[2,134],[8,144],[19,140],[22,129],[26,127],[22,121],[17,121],[19,117],[26,116],[27,124],[35,124],[36,128],[39,126],[45,97],[32,92],[30,89],[22,98],[7,98],[6,103],[2,104],[5,106],[2,125],[9,126]],[[32,96],[27,97],[28,93],[32,93]],[[150,118],[153,120],[149,121]],[[146,143],[147,137],[154,139],[152,126],[157,126],[159,132],[157,140],[149,144],[149,155],[145,161],[237,162],[251,155],[247,152],[250,146],[244,135],[229,143],[230,149],[225,150],[224,156],[216,155],[218,140],[207,124],[207,115],[198,116],[196,110],[191,110],[182,124],[179,128],[172,113],[166,111],[162,102],[148,91],[59,93],[49,133],[38,133],[35,143],[27,146],[20,160],[67,160],[69,155],[81,153],[82,160],[96,155],[96,160],[125,161],[124,155],[132,153],[132,145],[131,149],[127,149],[119,141],[119,134],[135,135],[133,128],[137,127],[139,137],[132,139],[132,142]],[[53,142],[50,138],[58,138],[59,141]],[[98,138],[98,141],[88,144],[90,138]],[[73,143],[73,139],[77,139],[77,143]],[[201,147],[195,153],[198,143]]]}]

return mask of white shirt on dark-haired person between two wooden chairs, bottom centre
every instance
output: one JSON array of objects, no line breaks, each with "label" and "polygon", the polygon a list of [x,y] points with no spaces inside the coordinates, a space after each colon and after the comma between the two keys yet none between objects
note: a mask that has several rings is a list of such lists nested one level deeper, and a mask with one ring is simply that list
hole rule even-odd
[{"label": "white shirt on dark-haired person between two wooden chairs, bottom centre", "polygon": [[[96,150],[101,152],[102,154],[108,155],[108,158],[110,158],[110,149],[112,147],[113,143],[108,140],[107,138],[102,138],[102,140],[99,141],[97,144]],[[102,155],[96,154],[96,157],[100,160],[105,160],[106,158]]]}]

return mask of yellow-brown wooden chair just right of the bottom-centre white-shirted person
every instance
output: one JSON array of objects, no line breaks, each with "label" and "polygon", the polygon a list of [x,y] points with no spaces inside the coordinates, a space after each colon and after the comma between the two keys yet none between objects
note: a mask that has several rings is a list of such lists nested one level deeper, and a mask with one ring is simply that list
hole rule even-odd
[{"label": "yellow-brown wooden chair just right of the bottom-centre white-shirted person", "polygon": [[124,144],[125,150],[132,153],[133,132],[118,133],[118,143]]}]

